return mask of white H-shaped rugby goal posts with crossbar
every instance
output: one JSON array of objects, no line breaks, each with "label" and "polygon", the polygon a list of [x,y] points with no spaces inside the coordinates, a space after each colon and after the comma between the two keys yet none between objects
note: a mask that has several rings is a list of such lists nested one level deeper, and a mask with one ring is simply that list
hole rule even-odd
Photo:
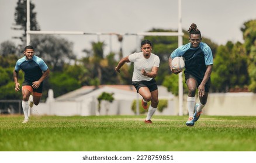
[{"label": "white H-shaped rugby goal posts with crossbar", "polygon": [[[141,32],[141,33],[100,33],[92,32],[86,33],[84,31],[35,31],[30,30],[30,0],[27,0],[27,31],[26,31],[26,44],[30,44],[30,35],[31,34],[72,34],[72,35],[121,35],[121,36],[178,36],[178,47],[182,45],[182,19],[181,19],[181,0],[178,0],[178,32]],[[29,20],[29,21],[28,21]],[[182,83],[182,72],[179,73],[179,115],[183,115],[183,83]]]}]

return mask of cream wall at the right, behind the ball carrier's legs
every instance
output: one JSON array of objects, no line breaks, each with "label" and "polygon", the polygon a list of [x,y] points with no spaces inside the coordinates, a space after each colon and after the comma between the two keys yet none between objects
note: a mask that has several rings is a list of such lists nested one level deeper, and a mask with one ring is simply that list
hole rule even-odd
[{"label": "cream wall at the right, behind the ball carrier's legs", "polygon": [[[184,115],[188,115],[186,98],[184,95]],[[178,97],[175,97],[174,101],[175,112],[178,115]],[[198,97],[196,102],[199,102]],[[256,94],[210,93],[202,115],[256,116]]]}]

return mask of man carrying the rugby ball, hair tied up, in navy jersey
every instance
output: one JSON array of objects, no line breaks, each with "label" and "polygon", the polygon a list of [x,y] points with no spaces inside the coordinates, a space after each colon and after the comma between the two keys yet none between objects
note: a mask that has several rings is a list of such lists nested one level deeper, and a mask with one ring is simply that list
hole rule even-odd
[{"label": "man carrying the rugby ball, hair tied up, in navy jersey", "polygon": [[[171,61],[176,56],[182,56],[185,61],[185,80],[188,87],[188,114],[187,126],[193,126],[198,121],[203,107],[207,102],[210,89],[210,75],[213,67],[213,55],[210,47],[201,42],[201,33],[196,24],[191,24],[189,43],[175,49],[169,57],[169,66],[172,73],[178,74],[182,70],[171,67]],[[198,88],[199,103],[195,105],[196,88]]]}]

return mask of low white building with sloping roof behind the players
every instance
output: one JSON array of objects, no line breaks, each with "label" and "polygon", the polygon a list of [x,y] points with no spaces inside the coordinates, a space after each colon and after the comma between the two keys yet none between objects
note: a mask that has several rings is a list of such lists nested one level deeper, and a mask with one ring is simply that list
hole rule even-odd
[{"label": "low white building with sloping roof behind the players", "polygon": [[[113,102],[102,101],[101,111],[98,111],[98,96],[103,92],[113,93]],[[158,86],[159,99],[168,100],[168,107],[155,115],[175,115],[174,95],[167,88]],[[78,90],[53,98],[53,91],[49,91],[46,102],[31,109],[32,115],[58,115],[58,116],[89,116],[89,115],[136,115],[132,111],[132,102],[137,100],[137,107],[141,96],[137,94],[132,85],[102,85],[84,86]]]}]

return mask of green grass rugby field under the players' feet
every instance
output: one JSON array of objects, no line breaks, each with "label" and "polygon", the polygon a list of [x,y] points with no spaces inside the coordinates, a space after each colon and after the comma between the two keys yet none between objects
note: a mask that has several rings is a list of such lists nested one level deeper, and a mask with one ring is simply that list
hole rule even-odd
[{"label": "green grass rugby field under the players' feet", "polygon": [[255,116],[0,115],[1,151],[256,151]]}]

